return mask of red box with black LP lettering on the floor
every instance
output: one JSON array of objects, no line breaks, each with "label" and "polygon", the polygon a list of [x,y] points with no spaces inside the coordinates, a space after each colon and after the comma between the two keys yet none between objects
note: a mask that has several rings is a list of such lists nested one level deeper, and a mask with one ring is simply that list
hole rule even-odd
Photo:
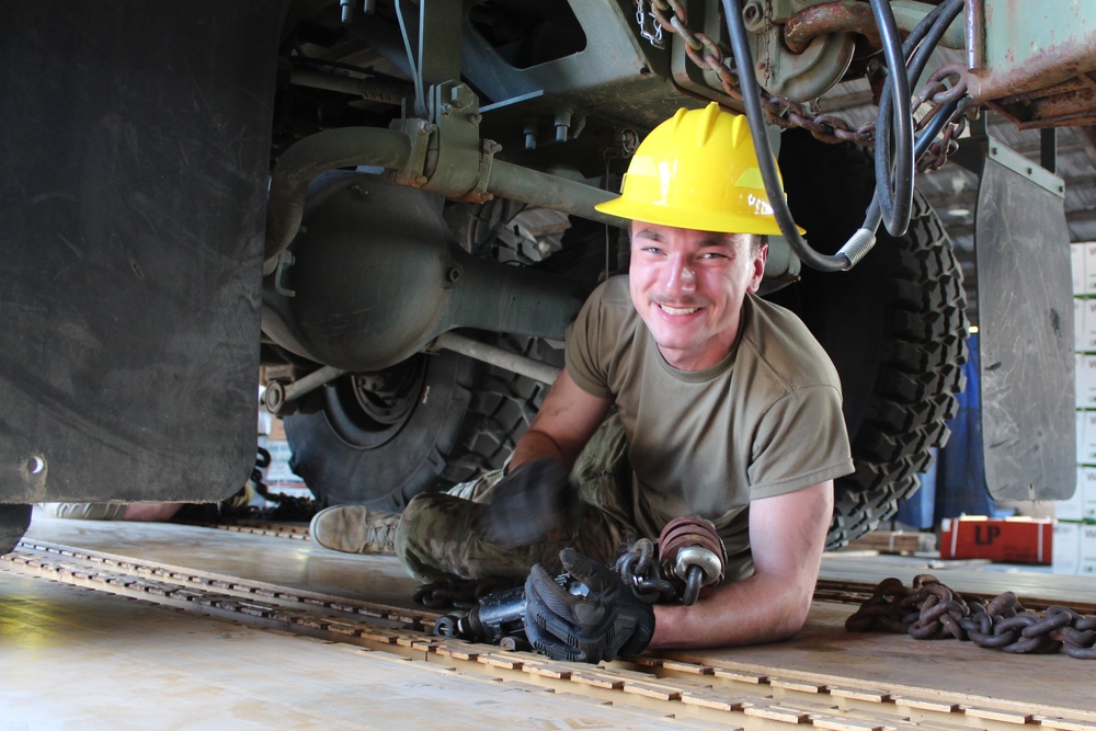
[{"label": "red box with black LP lettering on the floor", "polygon": [[990,559],[1006,563],[1050,563],[1051,518],[991,518],[969,515],[940,522],[941,559]]}]

